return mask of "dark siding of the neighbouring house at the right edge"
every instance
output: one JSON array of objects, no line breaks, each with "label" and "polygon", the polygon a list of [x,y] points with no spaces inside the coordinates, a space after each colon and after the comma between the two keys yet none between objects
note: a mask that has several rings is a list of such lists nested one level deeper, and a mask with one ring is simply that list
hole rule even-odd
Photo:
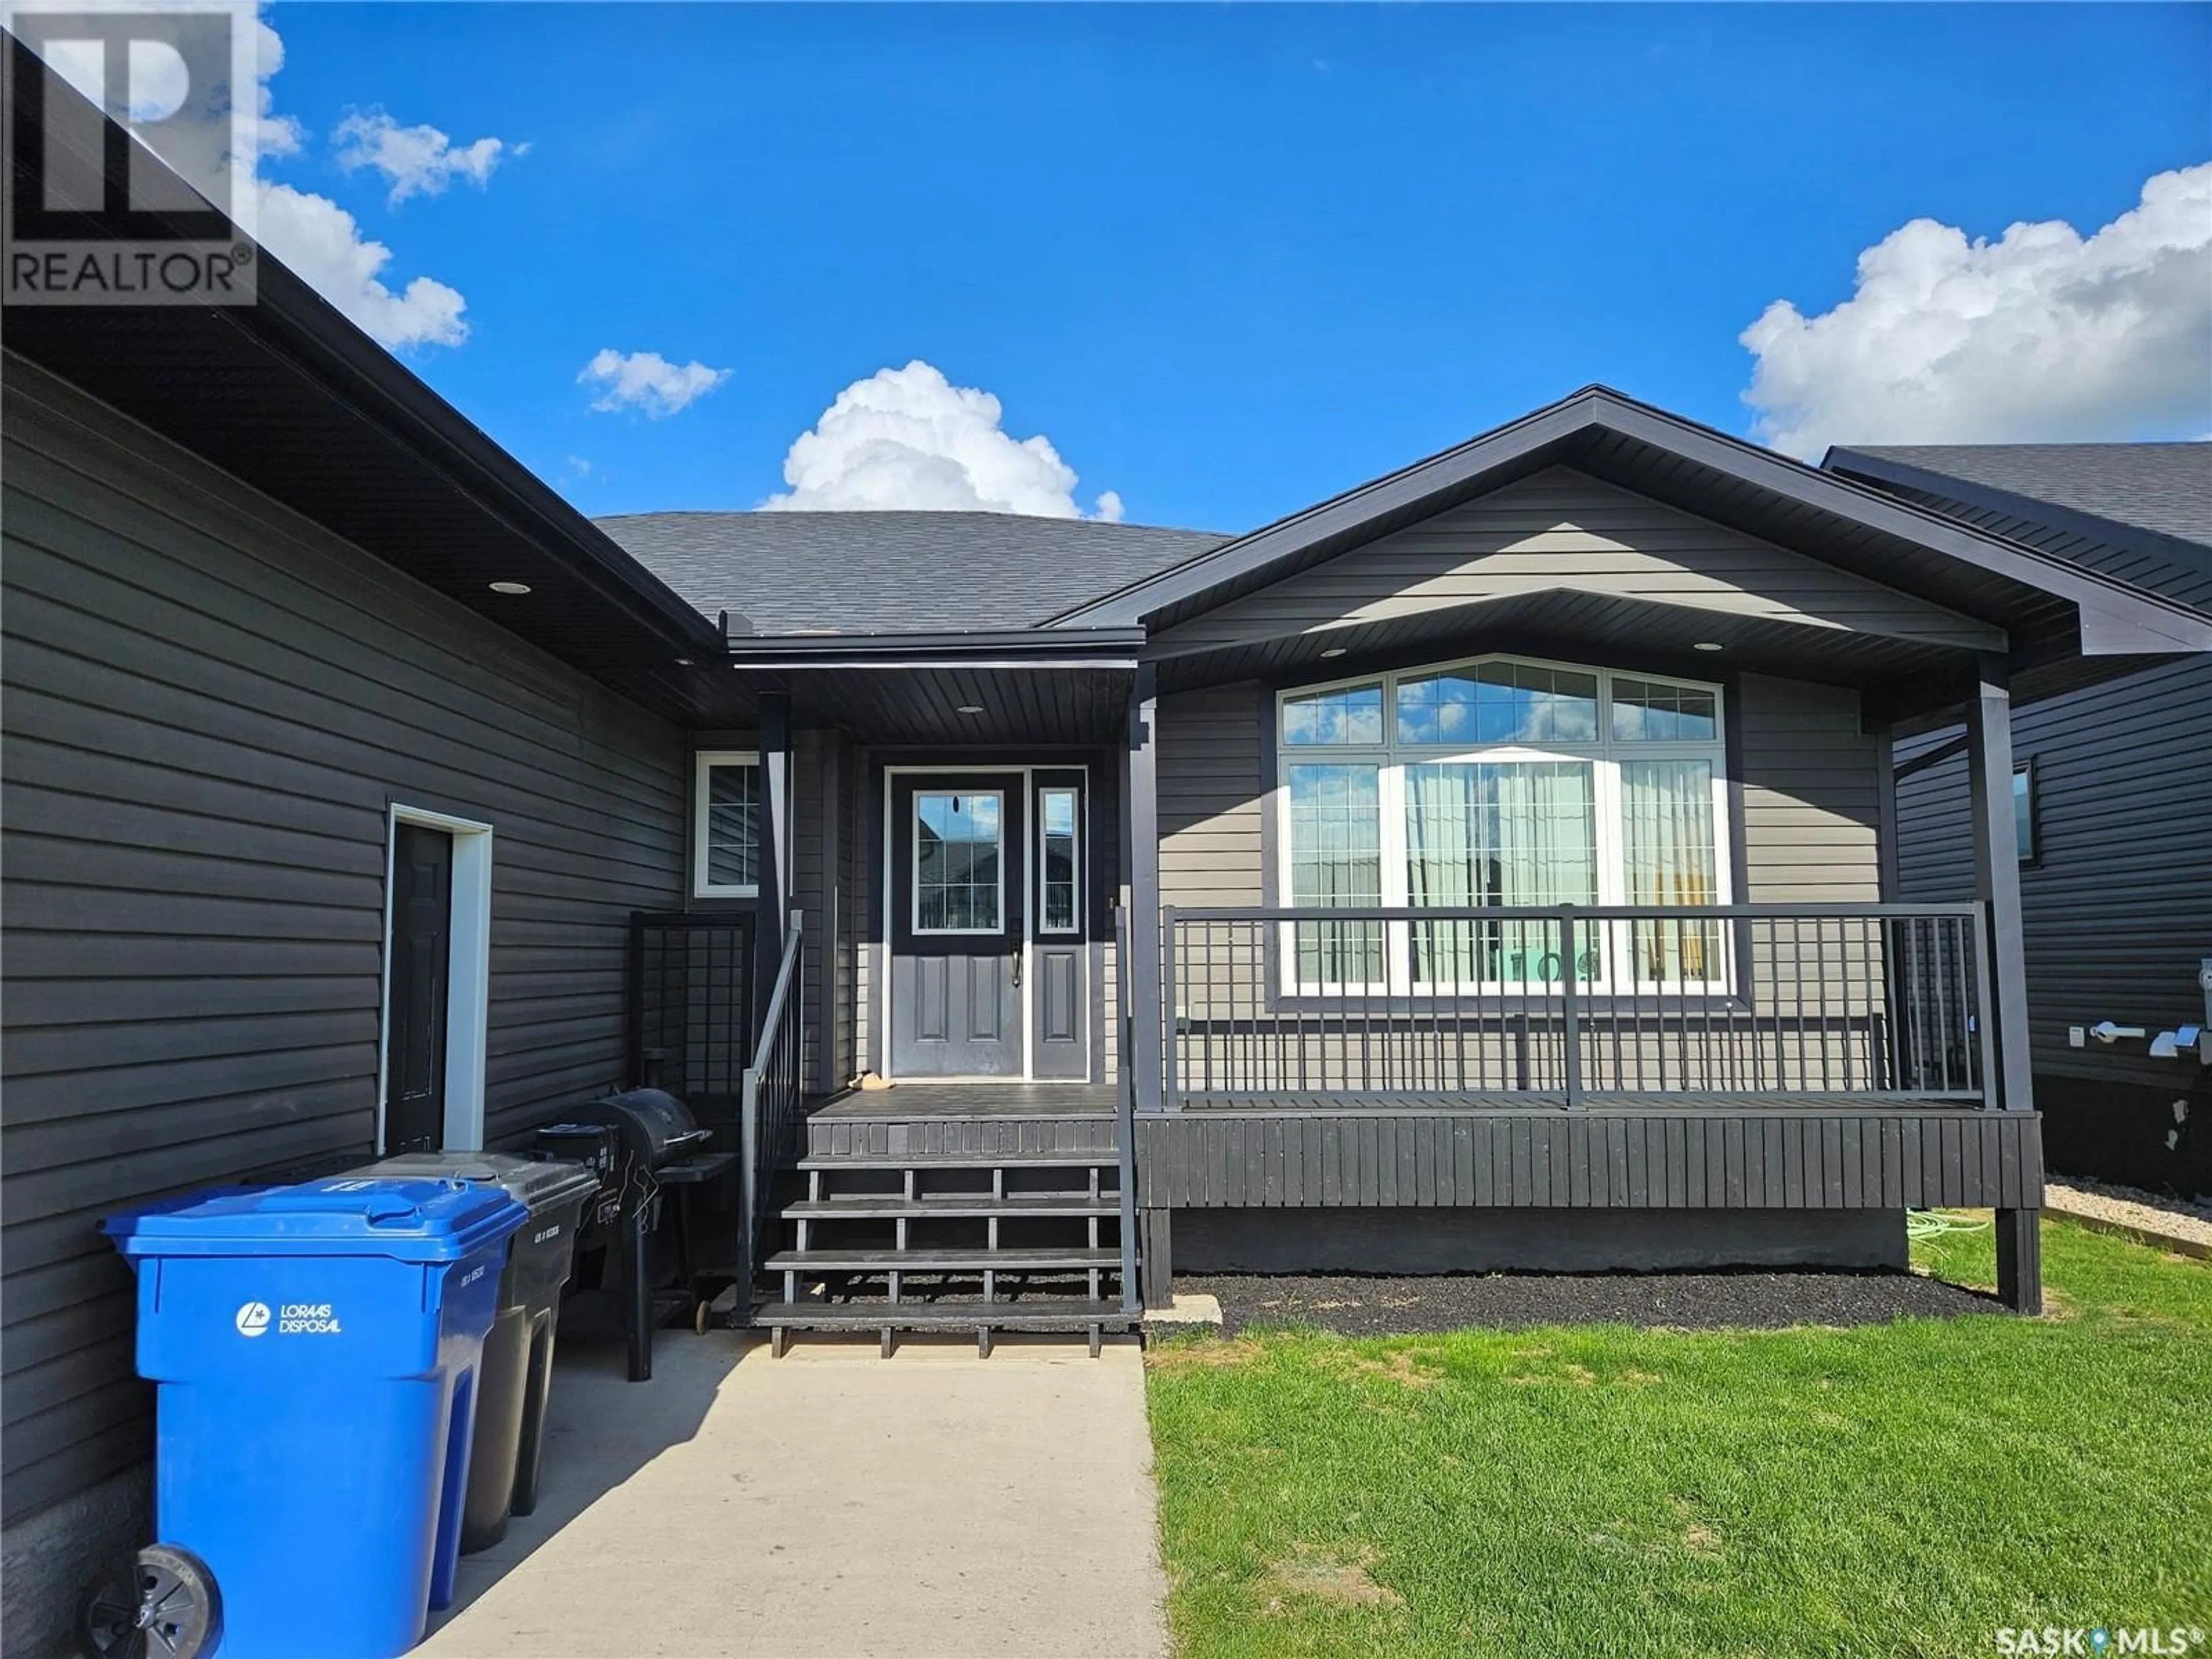
[{"label": "dark siding of the neighbouring house at the right edge", "polygon": [[[1942,745],[1929,732],[1905,761]],[[2146,1044],[2070,1048],[2099,1020],[2172,1029],[2203,1018],[2212,953],[2212,659],[2146,668],[2013,712],[2035,763],[2039,858],[2020,872],[2035,1071],[2185,1095],[2197,1068]],[[1900,898],[1973,896],[1966,759],[1898,781]]]}]

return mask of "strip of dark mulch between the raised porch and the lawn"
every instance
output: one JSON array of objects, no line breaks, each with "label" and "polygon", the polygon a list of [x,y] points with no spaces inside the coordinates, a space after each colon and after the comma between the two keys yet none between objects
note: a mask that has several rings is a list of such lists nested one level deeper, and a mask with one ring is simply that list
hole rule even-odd
[{"label": "strip of dark mulch between the raised porch and the lawn", "polygon": [[1668,1325],[1778,1329],[1885,1325],[1909,1316],[1989,1314],[1995,1296],[1918,1274],[1363,1274],[1175,1276],[1177,1294],[1221,1298],[1223,1329],[1318,1325],[1345,1336],[1409,1336],[1471,1325]]}]

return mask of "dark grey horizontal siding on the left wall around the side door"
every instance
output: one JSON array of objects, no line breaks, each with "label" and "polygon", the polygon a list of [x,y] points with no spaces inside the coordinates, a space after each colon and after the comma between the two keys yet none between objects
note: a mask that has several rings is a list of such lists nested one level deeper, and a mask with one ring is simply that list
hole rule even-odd
[{"label": "dark grey horizontal siding on the left wall around the side door", "polygon": [[7,358],[13,1520],[146,1451],[100,1217],[367,1155],[385,814],[489,821],[487,1137],[617,1079],[684,739]]}]

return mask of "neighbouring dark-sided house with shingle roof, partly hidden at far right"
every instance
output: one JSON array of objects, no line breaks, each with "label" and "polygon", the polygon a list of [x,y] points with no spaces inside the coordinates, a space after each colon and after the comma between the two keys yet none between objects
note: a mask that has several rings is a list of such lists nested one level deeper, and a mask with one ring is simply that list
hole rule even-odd
[{"label": "neighbouring dark-sided house with shingle roof, partly hidden at far right", "polygon": [[[2212,615],[2212,445],[1834,449],[1829,471]],[[1898,898],[1973,889],[1964,737],[1900,737]],[[2028,1048],[2068,1175],[2212,1192],[2212,657],[2013,710]]]}]

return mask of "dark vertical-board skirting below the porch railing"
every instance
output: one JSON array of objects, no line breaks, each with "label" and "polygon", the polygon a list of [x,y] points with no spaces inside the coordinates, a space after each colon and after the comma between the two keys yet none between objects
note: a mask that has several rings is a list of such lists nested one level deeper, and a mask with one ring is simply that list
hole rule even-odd
[{"label": "dark vertical-board skirting below the porch railing", "polygon": [[2042,1208],[2042,1121],[2000,1110],[1137,1117],[1137,1203],[1192,1208]]}]

